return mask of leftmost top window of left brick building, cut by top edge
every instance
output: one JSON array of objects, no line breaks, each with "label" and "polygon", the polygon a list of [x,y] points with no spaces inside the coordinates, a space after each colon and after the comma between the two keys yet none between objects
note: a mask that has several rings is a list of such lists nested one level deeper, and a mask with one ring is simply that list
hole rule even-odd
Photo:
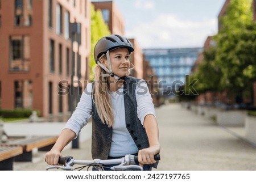
[{"label": "leftmost top window of left brick building, cut by top edge", "polygon": [[14,24],[16,27],[31,26],[32,0],[15,0]]}]

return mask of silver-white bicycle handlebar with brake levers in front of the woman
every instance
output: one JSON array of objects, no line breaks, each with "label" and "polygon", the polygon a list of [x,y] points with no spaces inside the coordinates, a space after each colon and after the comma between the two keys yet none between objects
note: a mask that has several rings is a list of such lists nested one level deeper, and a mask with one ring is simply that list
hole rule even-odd
[{"label": "silver-white bicycle handlebar with brake levers in front of the woman", "polygon": [[[160,154],[156,154],[154,156],[155,160],[160,160]],[[89,171],[89,167],[96,167],[98,171],[104,171],[104,167],[106,165],[112,165],[112,164],[117,164],[117,166],[110,167],[110,170],[129,170],[131,168],[141,170],[143,171],[143,168],[141,166],[138,166],[136,163],[138,162],[138,156],[137,155],[131,155],[127,154],[123,156],[122,158],[118,159],[106,159],[106,160],[101,160],[101,159],[94,159],[94,160],[77,160],[74,159],[72,156],[64,156],[59,159],[59,165],[57,166],[50,166],[47,167],[46,170],[51,170],[51,169],[61,169],[65,171],[73,171],[73,170],[82,170],[85,167],[87,167],[87,171]],[[74,168],[73,166],[79,164],[82,165],[80,167]],[[60,166],[62,165],[62,166]]]}]

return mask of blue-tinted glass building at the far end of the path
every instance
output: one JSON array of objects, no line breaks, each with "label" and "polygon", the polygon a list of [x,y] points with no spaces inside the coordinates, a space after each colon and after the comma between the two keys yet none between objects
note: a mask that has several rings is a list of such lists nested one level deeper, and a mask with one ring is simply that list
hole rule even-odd
[{"label": "blue-tinted glass building at the far end of the path", "polygon": [[146,60],[150,62],[158,77],[162,94],[174,96],[174,90],[185,83],[185,75],[197,60],[203,48],[143,49]]}]

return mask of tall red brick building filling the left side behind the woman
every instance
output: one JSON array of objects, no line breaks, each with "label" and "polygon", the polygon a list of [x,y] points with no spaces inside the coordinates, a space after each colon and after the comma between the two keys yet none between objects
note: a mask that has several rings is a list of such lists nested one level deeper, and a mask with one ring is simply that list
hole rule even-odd
[{"label": "tall red brick building filling the left side behind the woman", "polygon": [[68,114],[89,53],[90,1],[0,0],[0,108]]}]

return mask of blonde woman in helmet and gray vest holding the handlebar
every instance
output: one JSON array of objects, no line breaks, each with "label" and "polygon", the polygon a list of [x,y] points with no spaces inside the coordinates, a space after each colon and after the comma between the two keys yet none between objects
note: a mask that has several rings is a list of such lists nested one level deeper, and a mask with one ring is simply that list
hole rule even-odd
[{"label": "blonde woman in helmet and gray vest holding the handlebar", "polygon": [[98,41],[95,80],[86,86],[75,112],[46,154],[48,164],[58,163],[61,151],[92,117],[93,159],[138,154],[144,170],[157,166],[154,155],[160,152],[160,143],[152,98],[145,81],[128,76],[133,51],[123,36],[109,35]]}]

